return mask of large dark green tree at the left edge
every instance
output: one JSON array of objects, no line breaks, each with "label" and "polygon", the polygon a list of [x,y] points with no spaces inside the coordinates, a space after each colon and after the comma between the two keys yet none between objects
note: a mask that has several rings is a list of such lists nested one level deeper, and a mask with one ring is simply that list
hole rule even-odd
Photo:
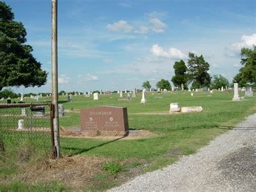
[{"label": "large dark green tree at the left edge", "polygon": [[13,20],[12,8],[0,2],[0,91],[3,86],[42,86],[47,73],[26,43],[26,29]]}]

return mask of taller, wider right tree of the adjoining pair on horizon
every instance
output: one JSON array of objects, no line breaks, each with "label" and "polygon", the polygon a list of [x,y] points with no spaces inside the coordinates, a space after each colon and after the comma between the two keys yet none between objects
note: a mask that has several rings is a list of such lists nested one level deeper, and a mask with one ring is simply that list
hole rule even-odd
[{"label": "taller, wider right tree of the adjoining pair on horizon", "polygon": [[210,68],[209,63],[204,60],[204,56],[196,56],[189,52],[188,73],[192,88],[202,88],[211,84],[211,76],[207,72]]}]

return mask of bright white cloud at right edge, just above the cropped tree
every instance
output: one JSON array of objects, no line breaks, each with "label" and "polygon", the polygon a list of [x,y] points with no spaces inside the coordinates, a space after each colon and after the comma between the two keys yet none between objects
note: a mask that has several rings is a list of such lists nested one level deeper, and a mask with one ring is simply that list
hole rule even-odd
[{"label": "bright white cloud at right edge, just above the cropped tree", "polygon": [[256,33],[252,35],[243,35],[241,37],[241,42],[237,42],[229,45],[229,49],[232,51],[240,51],[242,47],[251,48],[252,45],[256,45]]}]

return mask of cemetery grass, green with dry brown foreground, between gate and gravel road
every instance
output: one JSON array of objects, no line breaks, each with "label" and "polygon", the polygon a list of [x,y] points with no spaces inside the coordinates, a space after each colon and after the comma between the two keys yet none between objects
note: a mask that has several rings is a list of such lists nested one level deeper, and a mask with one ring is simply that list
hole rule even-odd
[{"label": "cemetery grass, green with dry brown foreground, between gate and gravel road", "polygon": [[[240,93],[241,96],[243,94]],[[0,191],[16,189],[38,191],[40,188],[46,191],[103,190],[116,186],[134,175],[163,168],[177,161],[180,156],[195,153],[198,148],[207,145],[216,136],[232,129],[245,116],[255,113],[255,97],[232,102],[232,96],[232,92],[212,94],[195,92],[193,97],[189,92],[154,93],[154,95],[147,93],[146,104],[140,103],[141,95],[130,101],[117,100],[117,94],[100,95],[97,101],[92,97],[77,95],[72,97],[72,102],[65,102],[67,96],[60,96],[59,100],[69,111],[60,118],[61,129],[79,127],[80,116],[77,109],[108,105],[127,107],[130,129],[147,130],[154,134],[136,140],[61,137],[63,158],[58,161],[34,159],[35,161],[26,163],[19,160],[6,163],[0,159]],[[24,101],[35,102],[30,99]],[[38,102],[40,101],[51,100],[42,98]],[[180,106],[202,106],[203,111],[156,115],[167,112],[171,102],[179,102]],[[41,173],[43,178],[38,172],[40,163],[44,164],[42,167],[45,173]],[[24,170],[24,167],[29,168]],[[29,175],[31,172],[35,173],[32,174],[34,179],[31,179],[32,175],[20,176]],[[76,182],[72,180],[74,178]]]}]

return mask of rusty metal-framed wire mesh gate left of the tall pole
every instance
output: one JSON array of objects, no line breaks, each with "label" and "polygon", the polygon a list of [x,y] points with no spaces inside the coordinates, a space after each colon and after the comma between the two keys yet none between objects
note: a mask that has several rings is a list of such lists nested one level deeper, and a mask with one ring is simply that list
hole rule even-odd
[{"label": "rusty metal-framed wire mesh gate left of the tall pole", "polygon": [[0,104],[0,151],[34,153],[56,157],[52,103]]}]

